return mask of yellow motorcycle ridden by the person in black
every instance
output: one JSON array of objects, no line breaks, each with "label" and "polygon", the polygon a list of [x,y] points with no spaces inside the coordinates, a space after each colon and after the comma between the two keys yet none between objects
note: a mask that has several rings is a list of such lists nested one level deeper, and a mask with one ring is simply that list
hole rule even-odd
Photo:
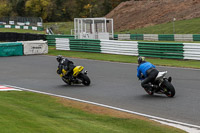
[{"label": "yellow motorcycle ridden by the person in black", "polygon": [[67,71],[65,69],[62,69],[62,73],[60,74],[60,77],[68,85],[83,84],[85,86],[89,86],[90,78],[87,76],[87,71],[82,72],[83,69],[84,69],[83,66],[76,66],[73,69],[73,74],[70,76],[66,76]]}]

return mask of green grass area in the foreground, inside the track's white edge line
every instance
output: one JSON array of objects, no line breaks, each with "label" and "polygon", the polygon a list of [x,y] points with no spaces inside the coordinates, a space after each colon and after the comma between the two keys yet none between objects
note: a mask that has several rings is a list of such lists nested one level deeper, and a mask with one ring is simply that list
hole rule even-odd
[{"label": "green grass area in the foreground, inside the track's white edge line", "polygon": [[183,133],[139,119],[97,115],[32,92],[0,92],[2,133]]}]

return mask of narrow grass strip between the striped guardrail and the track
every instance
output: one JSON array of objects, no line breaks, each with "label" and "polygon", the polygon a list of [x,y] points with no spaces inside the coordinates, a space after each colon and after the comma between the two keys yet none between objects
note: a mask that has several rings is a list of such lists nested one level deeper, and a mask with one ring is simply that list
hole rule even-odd
[{"label": "narrow grass strip between the striped guardrail and the track", "polygon": [[[54,56],[63,55],[66,57],[73,57],[73,58],[85,58],[85,59],[123,62],[123,63],[137,63],[136,56],[62,51],[62,50],[56,50],[55,46],[49,46],[48,55],[54,55]],[[200,69],[200,61],[197,61],[197,60],[159,59],[159,58],[148,58],[148,57],[146,58],[146,60],[155,65],[160,65],[160,66],[186,67],[186,68]]]}]

